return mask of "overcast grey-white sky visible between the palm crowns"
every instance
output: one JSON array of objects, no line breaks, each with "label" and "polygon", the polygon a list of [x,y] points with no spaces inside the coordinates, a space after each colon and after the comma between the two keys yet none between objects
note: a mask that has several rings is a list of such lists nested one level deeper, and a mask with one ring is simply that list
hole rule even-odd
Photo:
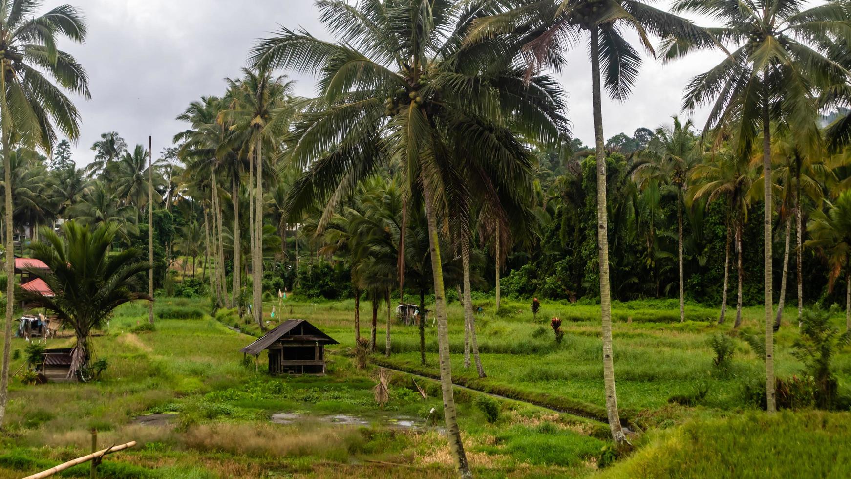
[{"label": "overcast grey-white sky visible between the palm crowns", "polygon": [[[279,25],[328,37],[309,0],[67,1],[83,10],[89,25],[85,44],[60,44],[89,72],[92,99],[77,100],[83,124],[74,160],[80,165],[92,161],[90,147],[107,131],[117,131],[131,147],[151,135],[155,155],[170,146],[174,134],[186,129],[174,117],[191,100],[222,94],[223,79],[239,76],[254,40]],[[680,113],[683,86],[720,58],[707,52],[662,66],[648,57],[629,100],[603,100],[605,137],[668,122]],[[585,46],[570,54],[559,77],[568,93],[574,135],[590,145],[591,71]],[[314,93],[312,77],[294,78],[297,94]],[[695,112],[694,122],[702,126],[705,111]]]}]

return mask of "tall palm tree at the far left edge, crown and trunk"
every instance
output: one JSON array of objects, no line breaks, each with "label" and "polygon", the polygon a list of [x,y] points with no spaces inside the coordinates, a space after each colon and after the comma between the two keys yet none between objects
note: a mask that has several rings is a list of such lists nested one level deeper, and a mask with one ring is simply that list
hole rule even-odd
[{"label": "tall palm tree at the far left edge, crown and trunk", "polygon": [[[71,54],[57,48],[60,37],[83,43],[83,14],[70,5],[59,5],[38,15],[38,0],[3,0],[0,3],[0,134],[3,135],[4,180],[11,185],[12,146],[20,144],[50,151],[57,129],[69,140],[79,137],[79,112],[62,93],[65,89],[90,98],[83,66]],[[5,189],[7,212],[13,211],[12,188]],[[12,216],[6,214],[6,251],[14,248]],[[6,328],[3,370],[0,373],[0,425],[9,400],[9,349],[14,313],[14,261],[6,261]]]}]

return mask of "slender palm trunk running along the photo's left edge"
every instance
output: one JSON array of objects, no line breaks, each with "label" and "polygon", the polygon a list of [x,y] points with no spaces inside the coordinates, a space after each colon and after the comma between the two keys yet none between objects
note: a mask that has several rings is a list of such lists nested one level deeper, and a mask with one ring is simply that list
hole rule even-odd
[{"label": "slender palm trunk running along the photo's left edge", "polygon": [[[3,75],[0,75],[3,78]],[[5,94],[6,82],[0,81]],[[6,404],[9,402],[9,352],[12,349],[12,315],[14,314],[14,235],[12,234],[12,160],[10,158],[9,132],[3,132],[3,180],[5,181],[6,225],[6,323],[3,328],[3,371],[0,373],[0,427],[6,416]]]}]

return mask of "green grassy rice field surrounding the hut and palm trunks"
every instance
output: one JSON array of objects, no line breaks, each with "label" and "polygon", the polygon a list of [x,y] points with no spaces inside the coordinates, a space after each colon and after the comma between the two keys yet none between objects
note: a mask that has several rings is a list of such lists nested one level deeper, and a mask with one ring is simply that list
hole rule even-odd
[{"label": "green grassy rice field surrounding the hut and palm trunks", "polygon": [[[487,377],[464,367],[460,305],[449,305],[456,399],[465,448],[482,477],[846,477],[851,476],[851,413],[809,408],[763,413],[748,391],[764,376],[761,356],[744,340],[760,335],[761,308],[746,308],[733,356],[713,362],[710,339],[728,334],[717,310],[676,301],[614,305],[615,378],[633,448],[608,440],[596,305],[474,299]],[[276,306],[276,318],[270,317]],[[239,351],[258,334],[232,311],[212,315],[208,299],[157,299],[154,330],[146,305],[125,305],[94,338],[109,367],[88,384],[24,385],[13,380],[0,478],[21,477],[90,452],[91,430],[103,446],[134,440],[111,454],[101,477],[452,477],[436,378],[437,339],[426,327],[426,364],[414,326],[392,322],[384,356],[386,308],[379,309],[379,352],[368,368],[354,359],[354,301],[299,298],[266,304],[276,320],[310,321],[340,342],[327,350],[322,377],[271,377]],[[729,313],[728,313],[729,314]],[[780,377],[802,375],[792,356],[797,311],[776,335]],[[368,302],[361,331],[368,336]],[[557,343],[550,318],[563,319]],[[843,328],[844,319],[835,318]],[[49,347],[71,345],[49,339]],[[14,339],[13,371],[24,362]],[[834,358],[840,396],[851,396],[851,348]],[[389,402],[372,388],[391,368]],[[426,391],[427,398],[418,389]],[[465,387],[461,387],[465,386]],[[472,391],[476,390],[476,391]],[[485,394],[489,393],[489,394]],[[76,466],[62,476],[89,476]]]}]

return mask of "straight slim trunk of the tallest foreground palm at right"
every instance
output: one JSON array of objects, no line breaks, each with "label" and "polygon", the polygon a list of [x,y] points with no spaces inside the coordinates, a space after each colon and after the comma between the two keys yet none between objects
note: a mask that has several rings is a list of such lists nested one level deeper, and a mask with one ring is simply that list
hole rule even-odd
[{"label": "straight slim trunk of the tallest foreground palm at right", "polygon": [[[763,81],[768,83],[768,67],[762,72]],[[763,287],[765,289],[765,401],[768,413],[774,413],[774,322],[772,309],[774,308],[774,284],[771,271],[771,186],[774,180],[771,178],[771,117],[768,112],[768,86],[765,87],[762,98],[762,184],[764,185],[764,214],[762,216],[762,256],[765,260],[765,276]]]}]

